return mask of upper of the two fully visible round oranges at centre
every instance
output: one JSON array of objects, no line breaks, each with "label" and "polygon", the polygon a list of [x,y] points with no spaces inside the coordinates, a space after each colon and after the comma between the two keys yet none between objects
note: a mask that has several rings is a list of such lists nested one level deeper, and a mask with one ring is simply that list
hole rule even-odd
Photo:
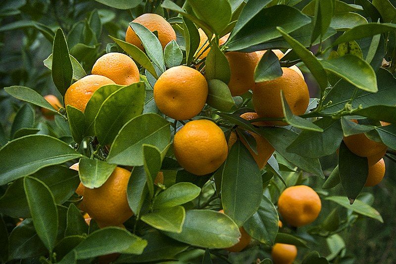
[{"label": "upper of the two fully visible round oranges at centre", "polygon": [[154,85],[154,101],[158,109],[177,120],[195,117],[205,106],[207,94],[205,77],[187,66],[167,69]]}]

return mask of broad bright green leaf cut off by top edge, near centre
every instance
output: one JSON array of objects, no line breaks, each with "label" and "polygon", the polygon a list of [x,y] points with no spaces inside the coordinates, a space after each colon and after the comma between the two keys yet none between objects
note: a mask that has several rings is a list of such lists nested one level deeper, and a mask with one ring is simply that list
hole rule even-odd
[{"label": "broad bright green leaf cut off by top edge, near centre", "polygon": [[231,5],[228,0],[187,0],[198,19],[205,21],[214,30],[221,34],[231,19]]}]

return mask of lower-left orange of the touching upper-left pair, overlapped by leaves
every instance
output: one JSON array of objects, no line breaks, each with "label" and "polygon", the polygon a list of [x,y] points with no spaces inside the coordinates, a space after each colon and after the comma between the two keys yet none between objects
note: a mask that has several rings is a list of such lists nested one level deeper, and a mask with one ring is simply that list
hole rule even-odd
[{"label": "lower-left orange of the touching upper-left pair, overlapped by leaves", "polygon": [[112,80],[101,75],[87,75],[73,83],[65,94],[65,106],[74,106],[84,112],[85,106],[90,101],[92,95],[100,87],[114,84]]}]

